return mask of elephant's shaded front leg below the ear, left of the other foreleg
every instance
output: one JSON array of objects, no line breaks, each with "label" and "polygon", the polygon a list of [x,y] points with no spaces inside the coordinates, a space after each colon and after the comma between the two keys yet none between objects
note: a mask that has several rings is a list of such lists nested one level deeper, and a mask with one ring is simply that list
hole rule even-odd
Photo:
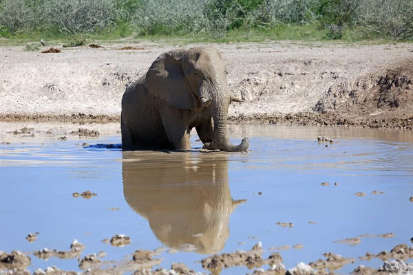
[{"label": "elephant's shaded front leg below the ear, left of the other foreleg", "polygon": [[190,150],[189,127],[182,113],[176,107],[162,108],[159,111],[165,133],[176,150]]}]

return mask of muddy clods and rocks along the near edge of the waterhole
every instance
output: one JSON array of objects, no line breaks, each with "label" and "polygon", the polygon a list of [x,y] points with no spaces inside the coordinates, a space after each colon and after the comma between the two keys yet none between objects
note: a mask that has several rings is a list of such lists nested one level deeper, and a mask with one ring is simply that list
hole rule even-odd
[{"label": "muddy clods and rocks along the near edge of the waterhole", "polygon": [[[384,235],[372,235],[381,236]],[[363,237],[370,235],[361,235]],[[40,259],[49,259],[51,256],[59,257],[60,259],[74,258],[79,259],[79,267],[84,272],[82,274],[125,274],[133,272],[134,275],[178,275],[178,274],[204,274],[191,270],[184,263],[173,263],[171,268],[158,268],[153,270],[153,267],[162,263],[162,258],[156,258],[160,253],[165,252],[165,249],[158,250],[136,250],[133,254],[127,256],[126,259],[119,261],[103,261],[101,258],[105,256],[104,252],[98,254],[88,254],[80,259],[81,252],[85,246],[74,240],[70,246],[71,250],[67,252],[59,252],[57,250],[40,250],[34,252],[35,256]],[[253,270],[250,274],[268,274],[268,275],[327,275],[335,274],[336,270],[340,270],[344,265],[355,263],[357,260],[370,260],[372,258],[381,259],[384,261],[378,269],[359,265],[353,270],[352,274],[366,275],[387,275],[387,274],[413,274],[413,263],[406,263],[409,259],[413,259],[413,247],[408,247],[406,244],[396,245],[390,252],[379,252],[377,254],[367,253],[366,256],[359,259],[348,259],[341,255],[332,252],[325,253],[325,259],[306,263],[298,263],[295,267],[286,269],[282,264],[282,256],[274,252],[268,257],[263,258],[262,254],[266,252],[262,248],[261,243],[257,243],[251,250],[237,250],[231,253],[222,253],[209,256],[200,261],[205,270],[209,270],[212,274],[220,274],[222,270],[231,267],[247,267]],[[13,251],[10,254],[0,251],[0,275],[3,274],[31,274],[26,270],[30,266],[30,257],[23,252]],[[268,265],[269,268],[264,270],[262,267]],[[8,270],[8,271],[7,271]],[[52,275],[74,275],[81,274],[79,272],[59,270],[57,267],[47,267],[45,270],[35,270],[34,275],[52,274]],[[338,272],[341,274],[341,272]]]}]

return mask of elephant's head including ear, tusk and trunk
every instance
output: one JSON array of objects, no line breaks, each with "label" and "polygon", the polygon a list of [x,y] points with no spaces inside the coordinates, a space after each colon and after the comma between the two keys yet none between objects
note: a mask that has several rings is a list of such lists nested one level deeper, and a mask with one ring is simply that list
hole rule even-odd
[{"label": "elephant's head including ear, tusk and trunk", "polygon": [[214,140],[206,148],[221,151],[246,151],[248,139],[240,145],[231,144],[226,133],[231,96],[226,83],[225,63],[218,50],[195,47],[172,50],[153,62],[145,79],[146,89],[175,107],[200,111],[211,109]]}]

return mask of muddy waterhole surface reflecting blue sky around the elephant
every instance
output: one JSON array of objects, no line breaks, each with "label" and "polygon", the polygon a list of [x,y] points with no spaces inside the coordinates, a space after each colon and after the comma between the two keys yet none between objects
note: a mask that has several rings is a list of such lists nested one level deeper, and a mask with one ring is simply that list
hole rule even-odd
[{"label": "muddy waterhole surface reflecting blue sky around the elephant", "polygon": [[[23,126],[34,127],[34,137],[7,133]],[[413,236],[410,131],[242,125],[231,126],[231,140],[250,137],[248,153],[201,152],[195,133],[191,152],[123,153],[117,124],[81,126],[99,137],[65,135],[78,127],[0,124],[0,143],[10,142],[0,144],[0,250],[70,250],[77,239],[86,246],[82,256],[104,251],[103,261],[118,261],[163,247],[161,267],[182,262],[206,272],[197,261],[258,241],[265,250],[291,247],[280,250],[290,268],[323,259],[324,252],[357,258],[389,251]],[[58,140],[63,135],[67,140]],[[319,135],[335,143],[317,142]],[[72,197],[85,190],[97,196]],[[25,239],[30,232],[40,233],[32,243]],[[395,236],[339,241],[385,233]],[[102,242],[115,234],[131,243]],[[30,257],[29,270],[80,271],[77,259]],[[338,272],[360,264],[381,261],[357,261]],[[234,267],[222,274],[246,272]]]}]

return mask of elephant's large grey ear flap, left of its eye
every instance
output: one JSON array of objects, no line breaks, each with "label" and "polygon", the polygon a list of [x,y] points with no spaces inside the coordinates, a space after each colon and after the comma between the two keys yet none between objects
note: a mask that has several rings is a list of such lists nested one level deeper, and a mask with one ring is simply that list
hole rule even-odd
[{"label": "elephant's large grey ear flap, left of its eye", "polygon": [[153,61],[147,72],[145,88],[153,96],[162,98],[175,107],[193,109],[198,106],[178,58],[171,53],[161,54]]}]

